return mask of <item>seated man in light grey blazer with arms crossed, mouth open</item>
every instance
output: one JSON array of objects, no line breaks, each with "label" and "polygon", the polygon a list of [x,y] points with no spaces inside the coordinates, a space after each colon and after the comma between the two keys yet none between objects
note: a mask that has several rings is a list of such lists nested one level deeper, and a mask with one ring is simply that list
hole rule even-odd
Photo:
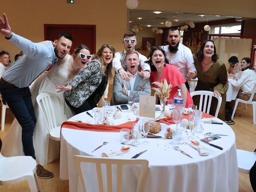
[{"label": "seated man in light grey blazer with arms crossed, mouth open", "polygon": [[143,79],[141,73],[138,72],[139,53],[132,50],[126,53],[125,65],[126,72],[132,74],[131,80],[128,82],[122,80],[120,74],[114,76],[112,102],[113,105],[127,104],[128,96],[139,97],[139,95],[150,95],[150,80]]}]

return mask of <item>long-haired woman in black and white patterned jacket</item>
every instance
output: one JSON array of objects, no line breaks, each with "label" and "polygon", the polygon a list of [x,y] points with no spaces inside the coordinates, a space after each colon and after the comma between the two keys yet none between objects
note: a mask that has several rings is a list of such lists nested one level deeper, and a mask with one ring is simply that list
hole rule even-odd
[{"label": "long-haired woman in black and white patterned jacket", "polygon": [[112,60],[116,50],[104,44],[94,54],[92,62],[75,76],[67,86],[56,86],[64,92],[67,105],[75,114],[91,110],[102,97],[108,79],[112,78]]}]

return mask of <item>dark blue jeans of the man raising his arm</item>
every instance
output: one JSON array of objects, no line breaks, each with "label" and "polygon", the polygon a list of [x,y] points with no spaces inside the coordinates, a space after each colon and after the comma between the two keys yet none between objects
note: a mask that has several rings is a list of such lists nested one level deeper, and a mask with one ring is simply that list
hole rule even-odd
[{"label": "dark blue jeans of the man raising his arm", "polygon": [[2,98],[8,104],[22,128],[22,146],[26,156],[36,159],[33,145],[33,132],[36,115],[32,105],[31,93],[28,87],[8,87],[0,83]]}]

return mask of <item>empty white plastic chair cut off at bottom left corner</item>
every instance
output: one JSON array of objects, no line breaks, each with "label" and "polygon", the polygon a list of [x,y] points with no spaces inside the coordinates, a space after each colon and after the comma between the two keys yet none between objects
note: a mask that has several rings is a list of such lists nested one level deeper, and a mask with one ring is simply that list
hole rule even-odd
[{"label": "empty white plastic chair cut off at bottom left corner", "polygon": [[28,181],[31,192],[41,191],[36,174],[36,160],[31,156],[4,157],[0,153],[0,186]]}]

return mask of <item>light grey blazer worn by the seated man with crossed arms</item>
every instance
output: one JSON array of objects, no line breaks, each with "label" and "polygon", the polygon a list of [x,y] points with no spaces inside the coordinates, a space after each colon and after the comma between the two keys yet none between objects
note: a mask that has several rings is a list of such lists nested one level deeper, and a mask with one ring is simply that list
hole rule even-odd
[{"label": "light grey blazer worn by the seated man with crossed arms", "polygon": [[[122,92],[123,82],[125,83],[127,90],[130,90],[130,95],[136,94],[135,96],[139,97],[139,95],[150,95],[151,94],[150,79],[143,80],[143,76],[140,76],[139,74],[137,74],[135,82],[134,82],[134,90],[131,91],[130,82],[127,82],[126,80],[122,80],[120,75],[117,73],[114,76],[114,83],[113,83],[113,93],[112,93],[113,105],[128,103],[128,96],[123,94],[123,92]],[[142,87],[144,87],[144,90],[140,91]]]}]

